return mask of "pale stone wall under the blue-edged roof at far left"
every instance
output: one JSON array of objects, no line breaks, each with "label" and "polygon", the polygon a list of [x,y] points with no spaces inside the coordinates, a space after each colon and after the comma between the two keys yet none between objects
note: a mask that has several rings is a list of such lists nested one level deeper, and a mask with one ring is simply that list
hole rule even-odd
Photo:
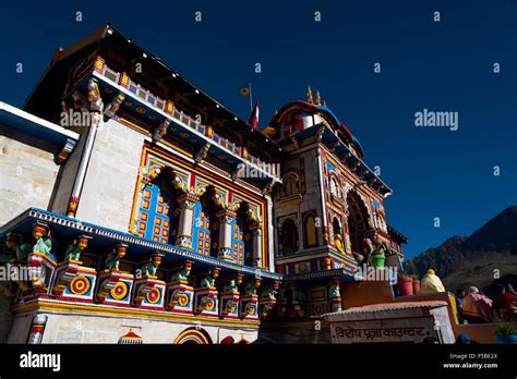
[{"label": "pale stone wall under the blue-edged roof at far left", "polygon": [[60,166],[56,146],[0,125],[0,225],[29,207],[47,209]]}]

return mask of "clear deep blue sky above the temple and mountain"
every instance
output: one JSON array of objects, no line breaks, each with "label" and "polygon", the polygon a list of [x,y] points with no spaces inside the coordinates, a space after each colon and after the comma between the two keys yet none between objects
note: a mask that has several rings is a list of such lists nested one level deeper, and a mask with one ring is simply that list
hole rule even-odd
[{"label": "clear deep blue sky above the temple and mountain", "polygon": [[[238,91],[252,82],[261,126],[287,101],[304,99],[308,85],[320,89],[361,142],[366,163],[380,166],[394,190],[386,215],[410,239],[408,256],[468,235],[517,204],[514,0],[3,0],[0,21],[0,100],[14,106],[23,105],[57,47],[106,22],[244,119],[249,103]],[[17,62],[23,74],[15,73]],[[423,109],[458,112],[459,129],[416,127],[414,113]]]}]

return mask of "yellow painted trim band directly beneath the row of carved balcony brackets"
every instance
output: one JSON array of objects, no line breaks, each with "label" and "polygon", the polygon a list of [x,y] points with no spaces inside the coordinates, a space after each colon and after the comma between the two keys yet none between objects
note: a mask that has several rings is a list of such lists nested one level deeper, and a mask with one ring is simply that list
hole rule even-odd
[{"label": "yellow painted trim band directly beneath the row of carved balcony brackets", "polygon": [[140,318],[154,318],[164,321],[201,321],[203,325],[216,325],[216,326],[237,326],[237,327],[258,327],[260,321],[241,321],[241,320],[218,320],[211,319],[202,316],[190,316],[190,315],[176,315],[167,311],[139,309],[139,308],[112,308],[101,305],[92,304],[67,304],[67,303],[55,303],[47,302],[45,299],[37,299],[31,303],[20,304],[12,307],[11,311],[15,315],[21,315],[34,310],[51,310],[51,311],[64,311],[64,313],[82,313],[88,315],[105,315],[105,316],[120,316],[120,317],[140,317]]}]

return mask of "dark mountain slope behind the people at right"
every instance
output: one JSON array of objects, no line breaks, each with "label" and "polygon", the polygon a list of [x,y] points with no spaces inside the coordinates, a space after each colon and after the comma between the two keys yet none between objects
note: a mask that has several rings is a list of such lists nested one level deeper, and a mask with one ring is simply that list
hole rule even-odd
[{"label": "dark mountain slope behind the people at right", "polygon": [[416,267],[420,277],[433,268],[450,292],[476,285],[493,295],[494,279],[517,285],[517,206],[506,208],[470,236],[453,236],[409,259],[409,267]]}]

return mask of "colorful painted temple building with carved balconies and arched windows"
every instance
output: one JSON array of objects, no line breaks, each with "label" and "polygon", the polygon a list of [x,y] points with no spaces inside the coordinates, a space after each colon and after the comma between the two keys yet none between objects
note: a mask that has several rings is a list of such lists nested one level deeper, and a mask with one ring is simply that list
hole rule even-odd
[{"label": "colorful painted temple building with carved balconies and arched windows", "polygon": [[3,342],[330,342],[394,298],[392,191],[310,89],[258,132],[107,25],[0,132]]}]

